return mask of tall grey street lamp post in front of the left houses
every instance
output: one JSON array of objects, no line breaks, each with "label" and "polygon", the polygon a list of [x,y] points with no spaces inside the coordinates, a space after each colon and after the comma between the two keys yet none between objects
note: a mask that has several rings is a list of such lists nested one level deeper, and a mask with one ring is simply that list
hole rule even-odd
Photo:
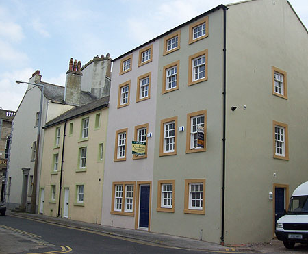
[{"label": "tall grey street lamp post in front of the left houses", "polygon": [[40,86],[42,88],[40,92],[40,111],[38,112],[38,136],[36,138],[36,160],[34,161],[34,173],[33,173],[33,187],[31,194],[31,214],[36,213],[36,188],[38,186],[38,155],[40,149],[40,129],[42,127],[42,102],[44,96],[44,85],[43,84],[34,84],[24,81],[16,80],[17,84],[29,84],[32,86]]}]

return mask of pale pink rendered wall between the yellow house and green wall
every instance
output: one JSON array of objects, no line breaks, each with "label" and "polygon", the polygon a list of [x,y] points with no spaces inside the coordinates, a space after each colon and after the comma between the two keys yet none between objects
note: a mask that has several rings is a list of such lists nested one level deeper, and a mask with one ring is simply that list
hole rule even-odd
[{"label": "pale pink rendered wall between the yellow house and green wall", "polygon": [[[153,60],[138,67],[138,48],[133,51],[132,70],[119,75],[120,59],[114,61],[112,71],[112,85],[110,88],[110,107],[107,127],[107,144],[105,161],[105,175],[103,186],[103,211],[102,224],[114,227],[135,228],[135,216],[120,216],[110,214],[112,204],[112,182],[113,181],[152,181],[154,163],[155,135],[155,111],[157,93],[157,66],[159,41],[150,42],[144,47],[153,43]],[[129,55],[129,54],[127,54]],[[125,55],[124,57],[126,57]],[[139,76],[151,71],[151,98],[136,103],[137,79]],[[131,80],[129,105],[117,108],[118,86],[123,82]],[[148,133],[152,132],[152,138],[148,138],[147,158],[133,160],[131,153],[131,141],[134,137],[135,126],[149,123]],[[126,160],[114,162],[114,146],[116,131],[128,128],[127,130],[127,155]],[[135,192],[136,193],[136,192]],[[138,197],[136,197],[138,198]],[[150,200],[151,202],[151,200]],[[135,200],[136,203],[136,200]],[[112,223],[111,223],[112,222]],[[151,225],[151,224],[150,224]]]}]

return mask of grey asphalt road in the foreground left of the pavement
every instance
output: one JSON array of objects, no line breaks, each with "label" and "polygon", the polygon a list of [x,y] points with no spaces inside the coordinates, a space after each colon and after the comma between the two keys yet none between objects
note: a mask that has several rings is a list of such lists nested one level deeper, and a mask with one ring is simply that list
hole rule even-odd
[{"label": "grey asphalt road in the foreground left of the pavement", "polygon": [[[0,216],[0,253],[213,253],[162,248],[103,233]],[[217,253],[217,252],[216,252]]]}]

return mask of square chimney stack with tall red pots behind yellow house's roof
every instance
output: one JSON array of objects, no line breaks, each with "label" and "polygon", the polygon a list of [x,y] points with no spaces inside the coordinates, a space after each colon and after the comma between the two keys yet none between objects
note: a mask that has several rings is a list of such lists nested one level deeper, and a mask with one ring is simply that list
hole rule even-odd
[{"label": "square chimney stack with tall red pots behind yellow house's roof", "polygon": [[68,105],[80,105],[81,76],[81,62],[78,62],[77,68],[77,60],[70,58],[64,89],[64,101]]}]

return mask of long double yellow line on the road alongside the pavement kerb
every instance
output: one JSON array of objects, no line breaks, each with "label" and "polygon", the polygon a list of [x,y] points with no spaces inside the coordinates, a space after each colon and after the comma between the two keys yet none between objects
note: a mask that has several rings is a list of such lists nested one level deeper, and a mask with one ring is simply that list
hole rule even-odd
[{"label": "long double yellow line on the road alongside the pavement kerb", "polygon": [[[26,220],[34,220],[38,223],[45,223],[45,224],[49,224],[49,225],[54,225],[54,226],[57,226],[57,227],[65,227],[66,229],[73,229],[73,230],[78,230],[78,231],[84,231],[84,232],[87,232],[87,233],[94,233],[96,235],[100,235],[100,236],[106,236],[106,237],[109,237],[109,238],[116,238],[116,239],[119,239],[119,240],[124,240],[124,241],[127,241],[127,242],[135,242],[135,243],[138,243],[138,244],[143,244],[143,245],[147,245],[147,246],[155,246],[155,247],[159,247],[159,248],[165,248],[165,249],[179,249],[179,250],[185,250],[185,251],[207,251],[207,252],[210,252],[210,253],[236,253],[236,254],[247,254],[248,252],[250,254],[257,254],[257,252],[242,252],[242,251],[214,251],[214,250],[210,250],[210,249],[189,249],[189,248],[183,248],[183,247],[176,247],[176,246],[167,246],[167,245],[164,245],[164,244],[155,244],[153,242],[146,242],[144,240],[136,240],[136,239],[133,239],[133,238],[127,238],[125,236],[116,236],[114,235],[113,233],[103,233],[103,232],[99,232],[99,231],[93,231],[91,229],[82,229],[82,228],[78,228],[78,227],[72,227],[72,226],[68,226],[68,225],[62,225],[60,223],[51,223],[51,222],[47,222],[47,221],[44,221],[42,219],[35,219],[35,218],[27,218],[27,217],[24,217],[24,216],[16,216],[16,215],[13,215],[13,214],[10,214],[9,216],[12,216],[12,217],[17,217],[17,218],[25,218]],[[31,253],[31,254],[37,254],[37,253]]]}]

